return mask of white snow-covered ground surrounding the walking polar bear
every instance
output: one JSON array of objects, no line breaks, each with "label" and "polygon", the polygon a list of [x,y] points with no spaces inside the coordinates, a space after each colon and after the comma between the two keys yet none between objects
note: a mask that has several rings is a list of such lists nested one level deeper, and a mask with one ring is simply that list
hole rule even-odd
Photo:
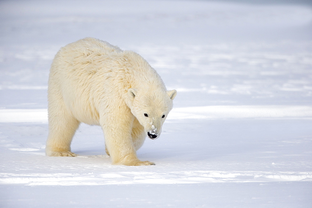
[{"label": "white snow-covered ground surrounding the walking polar bear", "polygon": [[[312,8],[266,1],[1,1],[0,207],[311,207]],[[176,89],[157,140],[110,165],[100,127],[46,157],[57,50],[87,36]]]}]

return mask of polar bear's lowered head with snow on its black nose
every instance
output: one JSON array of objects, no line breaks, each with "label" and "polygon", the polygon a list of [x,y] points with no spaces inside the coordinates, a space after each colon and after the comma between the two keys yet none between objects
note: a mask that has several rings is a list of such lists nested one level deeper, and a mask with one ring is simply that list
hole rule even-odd
[{"label": "polar bear's lowered head with snow on its black nose", "polygon": [[133,88],[128,90],[129,102],[127,104],[150,139],[159,137],[163,122],[172,109],[172,101],[176,95],[176,90],[160,92]]}]

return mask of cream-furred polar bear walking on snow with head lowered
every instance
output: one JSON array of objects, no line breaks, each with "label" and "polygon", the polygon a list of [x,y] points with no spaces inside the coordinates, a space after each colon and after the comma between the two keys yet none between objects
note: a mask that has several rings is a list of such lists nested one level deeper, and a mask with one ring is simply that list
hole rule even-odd
[{"label": "cream-furred polar bear walking on snow with head lowered", "polygon": [[83,122],[102,127],[112,164],[154,165],[136,151],[159,137],[176,94],[133,51],[95,38],[70,43],[51,64],[46,155],[75,157],[71,140]]}]

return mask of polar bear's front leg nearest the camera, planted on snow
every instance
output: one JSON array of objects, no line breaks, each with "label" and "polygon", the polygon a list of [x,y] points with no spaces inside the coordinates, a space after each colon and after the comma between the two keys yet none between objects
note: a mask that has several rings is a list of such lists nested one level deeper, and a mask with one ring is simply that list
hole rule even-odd
[{"label": "polar bear's front leg nearest the camera, planted on snow", "polygon": [[[122,115],[122,119],[120,119],[120,115]],[[106,114],[105,117],[101,119],[101,126],[104,132],[107,149],[106,152],[110,155],[112,164],[114,165],[154,165],[155,163],[140,161],[137,158],[131,136],[133,121],[134,116],[130,111],[124,111],[121,114],[115,111],[114,115]]]}]

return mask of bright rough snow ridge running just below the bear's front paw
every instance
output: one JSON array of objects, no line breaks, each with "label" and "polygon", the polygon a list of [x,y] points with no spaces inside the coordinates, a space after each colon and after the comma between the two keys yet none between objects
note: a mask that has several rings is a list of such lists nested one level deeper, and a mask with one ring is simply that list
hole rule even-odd
[{"label": "bright rough snow ridge running just below the bear's front paw", "polygon": [[251,172],[251,171],[176,171],[119,173],[0,173],[2,184],[39,185],[112,185],[112,184],[185,184],[210,182],[293,182],[312,181],[312,172]]}]

